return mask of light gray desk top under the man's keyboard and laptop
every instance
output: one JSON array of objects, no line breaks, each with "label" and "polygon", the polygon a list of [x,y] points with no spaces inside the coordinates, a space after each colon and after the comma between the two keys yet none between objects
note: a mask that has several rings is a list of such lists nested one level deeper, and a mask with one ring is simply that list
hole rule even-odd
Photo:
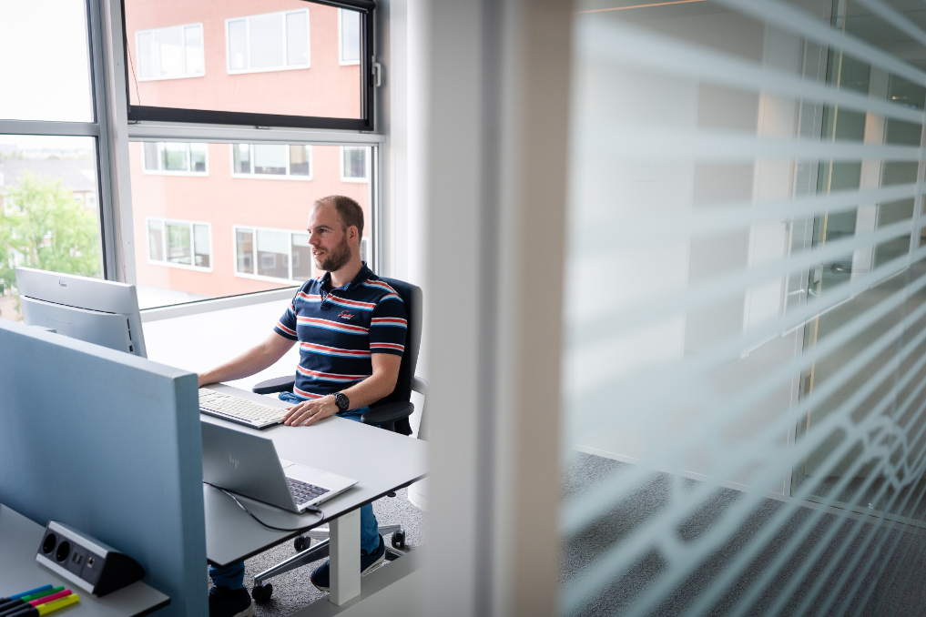
[{"label": "light gray desk top under the man's keyboard and laptop", "polygon": [[[269,405],[289,406],[283,401],[223,384],[208,388]],[[345,512],[411,484],[427,473],[425,442],[344,418],[332,416],[312,426],[277,425],[264,430],[208,415],[200,415],[200,418],[203,422],[232,426],[271,438],[277,454],[283,459],[357,480],[356,486],[319,504],[324,518],[313,513],[294,514],[260,501],[239,498],[261,521],[275,527],[292,529],[326,524]],[[206,556],[213,564],[224,566],[247,559],[288,537],[303,533],[274,531],[258,524],[217,488],[203,485],[203,499],[206,506]]]}]

